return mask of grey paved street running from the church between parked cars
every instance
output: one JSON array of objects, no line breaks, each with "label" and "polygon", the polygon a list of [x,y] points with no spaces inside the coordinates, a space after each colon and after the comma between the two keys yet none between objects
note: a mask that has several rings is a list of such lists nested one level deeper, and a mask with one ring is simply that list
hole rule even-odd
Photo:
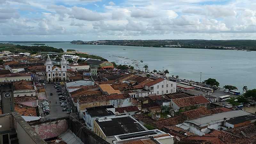
[{"label": "grey paved street running from the church between parked cars", "polygon": [[[64,116],[69,116],[66,111],[62,111],[62,108],[60,106],[60,100],[58,93],[56,92],[57,90],[54,88],[54,84],[46,84],[46,96],[48,98],[48,101],[50,103],[50,114],[45,116],[45,118],[59,118],[59,117],[64,117]],[[50,95],[52,93],[52,95]],[[57,104],[55,103],[57,101]],[[58,109],[58,110],[56,110]]]}]

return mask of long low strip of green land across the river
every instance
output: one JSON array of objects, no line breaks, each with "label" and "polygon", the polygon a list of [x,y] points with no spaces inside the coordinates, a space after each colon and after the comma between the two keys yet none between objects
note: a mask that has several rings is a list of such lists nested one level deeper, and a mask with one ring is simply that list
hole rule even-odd
[{"label": "long low strip of green land across the river", "polygon": [[218,50],[256,50],[256,40],[98,40],[72,41],[71,44],[124,45]]}]

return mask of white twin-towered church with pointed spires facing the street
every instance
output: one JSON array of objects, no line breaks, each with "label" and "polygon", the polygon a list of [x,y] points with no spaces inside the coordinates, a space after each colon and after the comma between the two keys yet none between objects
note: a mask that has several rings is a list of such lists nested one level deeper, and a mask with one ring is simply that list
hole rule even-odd
[{"label": "white twin-towered church with pointed spires facing the street", "polygon": [[65,82],[67,79],[67,61],[64,55],[61,58],[60,67],[53,66],[49,55],[46,60],[46,79],[48,82]]}]

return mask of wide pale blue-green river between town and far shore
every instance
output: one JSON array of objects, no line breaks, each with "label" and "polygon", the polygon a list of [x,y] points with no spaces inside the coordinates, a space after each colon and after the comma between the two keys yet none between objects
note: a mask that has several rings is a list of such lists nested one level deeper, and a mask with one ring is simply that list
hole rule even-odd
[{"label": "wide pale blue-green river between town and far shore", "polygon": [[[18,44],[18,43],[14,43]],[[215,78],[224,85],[234,85],[242,92],[244,85],[248,89],[256,88],[256,52],[235,50],[207,50],[207,49],[185,49],[185,48],[154,48],[136,46],[116,45],[79,45],[70,43],[44,43],[55,48],[75,49],[99,55],[108,61],[118,60],[127,65],[139,63],[140,69],[147,64],[149,70],[168,69],[171,75],[179,75],[180,78],[192,79],[200,82],[207,78]],[[31,44],[20,44],[31,45]],[[125,49],[125,50],[124,50]],[[116,61],[117,62],[117,61]],[[132,64],[132,62],[134,64]],[[137,68],[134,66],[134,68]]]}]

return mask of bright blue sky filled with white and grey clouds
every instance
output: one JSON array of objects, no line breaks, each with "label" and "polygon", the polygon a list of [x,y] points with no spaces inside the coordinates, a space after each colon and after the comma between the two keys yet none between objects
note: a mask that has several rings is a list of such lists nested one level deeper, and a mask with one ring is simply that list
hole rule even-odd
[{"label": "bright blue sky filled with white and grey clouds", "polygon": [[256,0],[0,0],[0,41],[255,39]]}]

